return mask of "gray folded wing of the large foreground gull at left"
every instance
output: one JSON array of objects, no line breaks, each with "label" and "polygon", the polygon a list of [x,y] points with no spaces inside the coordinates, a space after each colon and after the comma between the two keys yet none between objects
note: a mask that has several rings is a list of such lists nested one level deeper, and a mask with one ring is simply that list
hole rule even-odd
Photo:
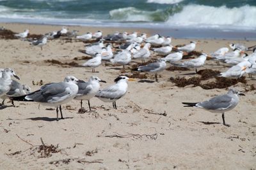
[{"label": "gray folded wing of the large foreground gull at left", "polygon": [[26,99],[30,99],[40,103],[47,103],[51,99],[54,100],[54,97],[59,98],[67,96],[66,88],[67,85],[64,82],[49,83],[41,87],[40,90],[28,94],[26,96]]}]

